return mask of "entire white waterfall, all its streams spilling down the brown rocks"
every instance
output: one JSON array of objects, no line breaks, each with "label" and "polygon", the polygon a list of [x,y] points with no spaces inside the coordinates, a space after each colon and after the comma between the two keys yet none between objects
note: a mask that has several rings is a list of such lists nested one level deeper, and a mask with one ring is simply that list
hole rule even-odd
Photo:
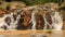
[{"label": "entire white waterfall, all its streams spilling down the brown rocks", "polygon": [[[29,21],[29,23],[32,23],[31,29],[36,29],[36,17],[35,16],[36,16],[36,13],[38,12],[37,9],[38,8],[34,9],[32,12],[31,12],[31,20]],[[41,10],[42,10],[42,8],[41,8]],[[14,12],[14,13],[16,13],[16,12]],[[54,13],[54,14],[52,15],[51,13]],[[61,30],[62,26],[63,26],[63,20],[62,20],[62,16],[60,15],[60,12],[54,11],[54,12],[51,12],[51,13],[50,13],[50,15],[51,15],[52,24],[47,22],[47,18],[46,18],[47,14],[46,13],[43,14],[43,20],[44,20],[43,29],[47,29],[47,26],[49,25],[49,28],[51,28],[51,29],[54,28],[55,30]],[[11,17],[10,26],[4,22],[4,18],[8,17],[8,16]],[[17,14],[15,21],[14,21],[13,12],[10,13],[10,14],[4,14],[3,17],[0,17],[0,29],[3,29],[3,28],[1,28],[1,26],[3,26],[3,25],[5,25],[6,28],[10,29],[10,30],[15,29],[15,27],[17,26],[16,24],[18,23],[20,18],[21,18],[21,14]],[[52,28],[52,26],[53,26],[53,28]]]}]

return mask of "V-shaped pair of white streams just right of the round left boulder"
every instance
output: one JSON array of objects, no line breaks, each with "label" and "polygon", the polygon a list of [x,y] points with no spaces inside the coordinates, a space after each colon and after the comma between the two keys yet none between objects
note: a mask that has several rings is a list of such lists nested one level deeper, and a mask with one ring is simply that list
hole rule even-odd
[{"label": "V-shaped pair of white streams just right of the round left boulder", "polygon": [[21,15],[17,15],[16,21],[14,21],[13,14],[10,17],[11,17],[11,23],[10,23],[10,26],[8,26],[8,29],[12,30],[12,29],[15,29],[15,27],[17,26],[16,24],[21,17]]}]

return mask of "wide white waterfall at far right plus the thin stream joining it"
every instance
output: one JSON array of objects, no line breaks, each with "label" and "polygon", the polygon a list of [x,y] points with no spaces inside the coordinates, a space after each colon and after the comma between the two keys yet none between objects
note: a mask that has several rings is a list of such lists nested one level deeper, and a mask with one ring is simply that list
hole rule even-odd
[{"label": "wide white waterfall at far right plus the thin stream joining it", "polygon": [[[52,12],[53,13],[53,12]],[[63,20],[62,20],[62,16],[60,15],[60,12],[56,12],[54,11],[54,15],[50,14],[51,15],[51,20],[52,20],[52,25],[50,25],[48,22],[47,22],[47,18],[46,18],[46,14],[43,15],[43,18],[44,18],[44,27],[43,29],[47,29],[47,25],[49,25],[49,27],[51,29],[55,29],[55,30],[61,30],[62,29],[62,26],[63,26]],[[53,27],[53,28],[52,28]]]}]

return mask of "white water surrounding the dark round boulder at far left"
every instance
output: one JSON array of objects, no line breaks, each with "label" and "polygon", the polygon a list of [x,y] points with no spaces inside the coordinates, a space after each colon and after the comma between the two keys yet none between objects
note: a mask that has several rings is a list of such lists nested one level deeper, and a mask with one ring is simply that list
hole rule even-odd
[{"label": "white water surrounding the dark round boulder at far left", "polygon": [[[8,16],[11,17],[10,26],[4,21],[5,17],[8,17]],[[4,30],[3,28],[1,28],[2,26],[6,26],[8,30],[14,30],[16,28],[16,26],[17,26],[16,24],[17,24],[20,17],[21,17],[21,15],[17,15],[16,21],[14,21],[13,13],[4,14],[3,17],[0,17],[0,30]]]}]

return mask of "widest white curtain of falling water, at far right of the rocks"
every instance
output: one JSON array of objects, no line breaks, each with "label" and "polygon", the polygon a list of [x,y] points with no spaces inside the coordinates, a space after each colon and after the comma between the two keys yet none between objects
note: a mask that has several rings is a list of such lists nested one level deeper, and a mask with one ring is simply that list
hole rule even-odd
[{"label": "widest white curtain of falling water, at far right of the rocks", "polygon": [[52,16],[52,25],[55,30],[61,30],[63,26],[63,20],[62,16],[60,15],[60,12],[54,12],[55,14]]}]

